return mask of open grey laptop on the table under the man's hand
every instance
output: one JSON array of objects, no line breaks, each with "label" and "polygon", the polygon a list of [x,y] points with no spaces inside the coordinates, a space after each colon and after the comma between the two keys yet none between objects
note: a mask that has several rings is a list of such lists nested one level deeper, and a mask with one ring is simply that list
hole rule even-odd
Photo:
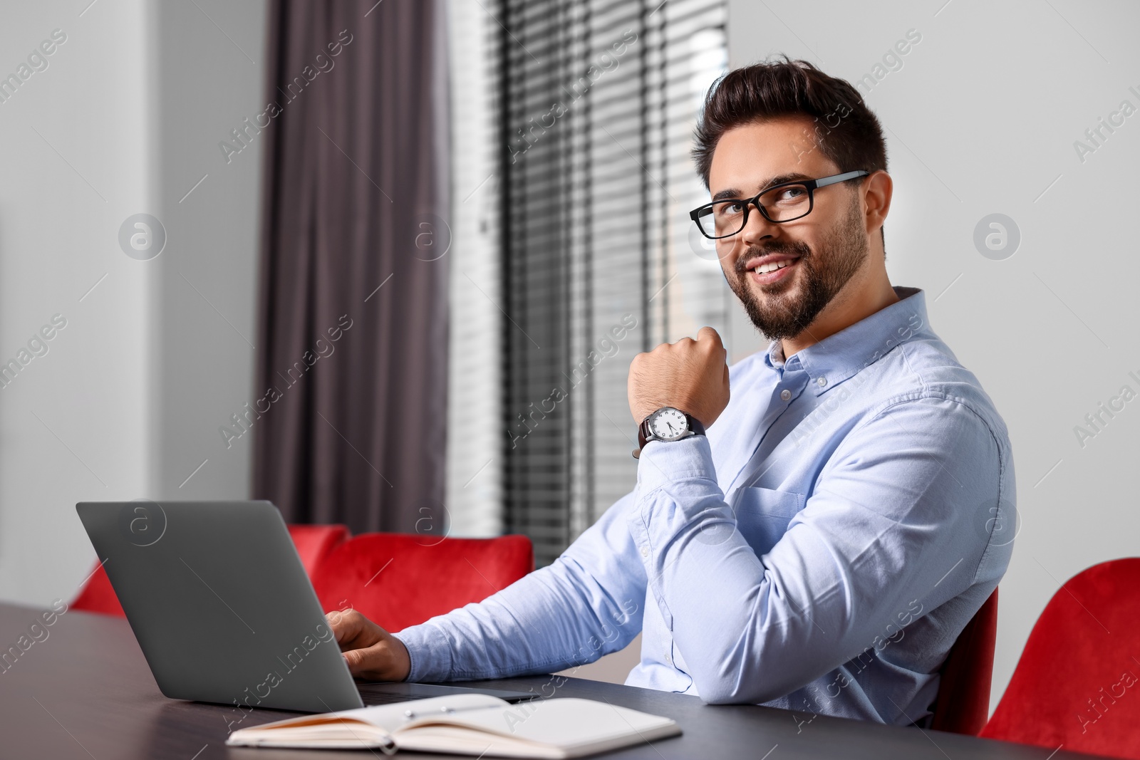
[{"label": "open grey laptop on the table under the man's hand", "polygon": [[332,712],[451,694],[537,696],[355,681],[269,501],[81,501],[75,510],[168,697]]}]

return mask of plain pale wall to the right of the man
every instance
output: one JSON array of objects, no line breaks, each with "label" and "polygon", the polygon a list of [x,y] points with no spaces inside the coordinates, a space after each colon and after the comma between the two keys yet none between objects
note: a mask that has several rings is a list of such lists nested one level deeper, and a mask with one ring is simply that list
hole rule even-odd
[{"label": "plain pale wall to the right of the man", "polygon": [[[1021,529],[1000,586],[993,708],[1060,583],[1140,554],[1140,401],[1083,447],[1074,433],[1123,385],[1140,392],[1140,115],[1083,162],[1074,148],[1122,100],[1140,108],[1140,6],[730,0],[730,60],[782,51],[854,83],[912,28],[921,41],[864,97],[889,130],[891,281],[927,291],[931,326],[1013,446]],[[1020,229],[1005,260],[974,245],[991,213]]]}]

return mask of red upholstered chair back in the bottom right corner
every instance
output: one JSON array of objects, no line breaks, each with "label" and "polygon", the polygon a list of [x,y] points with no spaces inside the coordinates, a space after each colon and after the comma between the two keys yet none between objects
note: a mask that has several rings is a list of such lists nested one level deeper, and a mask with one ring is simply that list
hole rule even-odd
[{"label": "red upholstered chair back in the bottom right corner", "polygon": [[990,738],[1140,759],[1140,557],[1084,570],[1045,605]]}]

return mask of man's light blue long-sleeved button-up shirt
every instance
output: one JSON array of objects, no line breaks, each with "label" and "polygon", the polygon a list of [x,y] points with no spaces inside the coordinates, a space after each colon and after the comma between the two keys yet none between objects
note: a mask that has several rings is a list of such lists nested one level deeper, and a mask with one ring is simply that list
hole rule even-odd
[{"label": "man's light blue long-sleeved button-up shirt", "polygon": [[1012,551],[1005,425],[925,295],[784,361],[730,368],[708,436],[650,442],[637,485],[553,564],[407,628],[410,680],[547,673],[624,648],[626,684],[922,722]]}]

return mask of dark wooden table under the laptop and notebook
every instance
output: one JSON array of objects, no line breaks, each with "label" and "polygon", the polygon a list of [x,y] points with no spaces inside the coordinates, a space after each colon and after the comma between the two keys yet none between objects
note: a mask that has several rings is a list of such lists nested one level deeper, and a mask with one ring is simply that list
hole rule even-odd
[{"label": "dark wooden table under the laptop and notebook", "polygon": [[[40,610],[0,604],[0,649],[16,646]],[[373,757],[363,751],[238,749],[225,745],[228,719],[221,705],[168,700],[158,692],[125,620],[68,611],[48,637],[22,652],[0,671],[0,758],[82,758],[95,760],[306,760]],[[38,632],[42,638],[42,632]],[[25,639],[26,641],[31,638]],[[18,651],[18,648],[17,648]],[[882,726],[842,718],[741,705],[709,706],[697,697],[583,679],[561,685],[551,676],[480,681],[487,686],[535,690],[555,696],[605,700],[668,716],[684,735],[622,750],[606,757],[667,760],[684,758],[888,758],[963,760],[1002,758],[1045,760],[1049,750],[970,736]],[[293,713],[254,710],[241,727]],[[801,722],[803,721],[803,722]],[[377,757],[384,757],[376,753]],[[408,753],[410,758],[427,755]],[[1051,760],[1088,758],[1057,752]]]}]

